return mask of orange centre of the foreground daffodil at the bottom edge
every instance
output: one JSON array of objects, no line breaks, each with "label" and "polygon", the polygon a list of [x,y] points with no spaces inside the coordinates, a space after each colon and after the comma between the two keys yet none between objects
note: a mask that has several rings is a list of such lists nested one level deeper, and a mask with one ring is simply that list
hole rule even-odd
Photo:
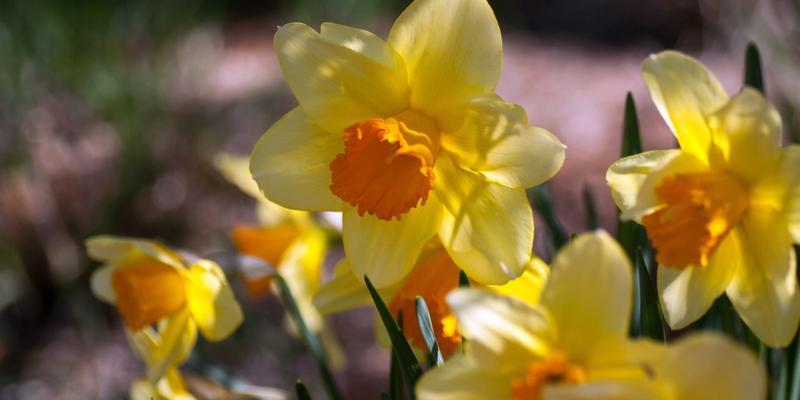
[{"label": "orange centre of the foreground daffodil at the bottom edge", "polygon": [[586,371],[570,364],[561,353],[550,354],[536,361],[525,372],[525,376],[514,379],[511,384],[513,400],[541,400],[542,389],[547,384],[577,384],[586,381]]}]

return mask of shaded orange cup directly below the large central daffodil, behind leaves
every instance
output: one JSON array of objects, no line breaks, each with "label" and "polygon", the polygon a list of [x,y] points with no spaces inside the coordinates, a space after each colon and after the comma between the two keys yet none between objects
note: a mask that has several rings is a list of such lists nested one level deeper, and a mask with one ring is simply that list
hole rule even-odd
[{"label": "shaded orange cup directly below the large central daffodil, behind leaves", "polygon": [[444,248],[439,248],[414,268],[389,303],[392,315],[403,312],[403,332],[418,348],[425,349],[427,346],[417,323],[417,296],[425,299],[442,354],[451,354],[461,343],[455,315],[445,302],[447,293],[458,286],[458,273],[458,266]]}]

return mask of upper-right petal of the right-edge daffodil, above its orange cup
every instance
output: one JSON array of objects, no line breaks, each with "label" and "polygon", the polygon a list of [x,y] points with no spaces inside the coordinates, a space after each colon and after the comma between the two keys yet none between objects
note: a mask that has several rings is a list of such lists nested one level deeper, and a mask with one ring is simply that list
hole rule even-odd
[{"label": "upper-right petal of the right-edge daffodil, above its orange cup", "polygon": [[771,171],[781,154],[781,116],[755,89],[745,88],[709,117],[714,168],[745,181]]}]

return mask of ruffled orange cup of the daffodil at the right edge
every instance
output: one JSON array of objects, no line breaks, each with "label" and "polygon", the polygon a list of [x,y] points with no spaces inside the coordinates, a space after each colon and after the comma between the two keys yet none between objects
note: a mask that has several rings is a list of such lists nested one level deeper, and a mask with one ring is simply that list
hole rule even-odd
[{"label": "ruffled orange cup of the daffodil at the right edge", "polygon": [[721,173],[677,174],[664,178],[656,196],[666,205],[642,224],[662,265],[708,265],[710,255],[747,209],[747,191]]}]

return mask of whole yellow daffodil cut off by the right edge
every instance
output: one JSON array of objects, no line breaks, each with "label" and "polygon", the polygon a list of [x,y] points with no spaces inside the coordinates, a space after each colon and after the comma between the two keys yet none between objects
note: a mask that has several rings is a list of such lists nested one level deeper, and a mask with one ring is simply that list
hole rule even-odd
[{"label": "whole yellow daffodil cut off by the right edge", "polygon": [[758,91],[729,98],[698,61],[651,56],[642,74],[680,144],[615,162],[606,178],[622,218],[644,225],[673,329],[727,294],[771,347],[800,321],[792,243],[800,242],[800,146],[781,148],[781,119]]}]

